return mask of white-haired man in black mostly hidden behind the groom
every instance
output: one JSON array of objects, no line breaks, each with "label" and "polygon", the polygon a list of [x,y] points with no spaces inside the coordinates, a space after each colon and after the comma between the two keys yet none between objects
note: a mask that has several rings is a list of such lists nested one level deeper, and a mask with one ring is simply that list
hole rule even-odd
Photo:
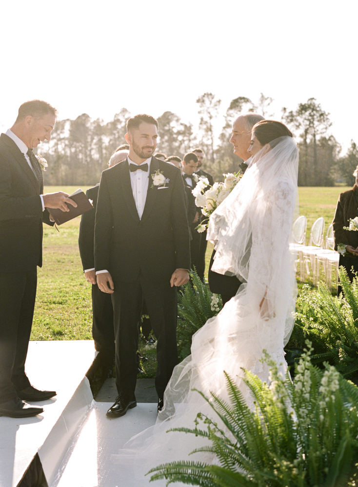
[{"label": "white-haired man in black mostly hidden behind the groom", "polygon": [[[120,150],[120,147],[112,154],[108,167],[112,168],[127,158],[129,151]],[[86,191],[94,209],[83,213],[81,217],[79,248],[84,277],[92,284],[92,337],[95,349],[99,352],[104,374],[112,377],[115,355],[112,299],[110,294],[102,293],[99,289],[95,271],[94,237],[98,190],[99,183]]]}]

